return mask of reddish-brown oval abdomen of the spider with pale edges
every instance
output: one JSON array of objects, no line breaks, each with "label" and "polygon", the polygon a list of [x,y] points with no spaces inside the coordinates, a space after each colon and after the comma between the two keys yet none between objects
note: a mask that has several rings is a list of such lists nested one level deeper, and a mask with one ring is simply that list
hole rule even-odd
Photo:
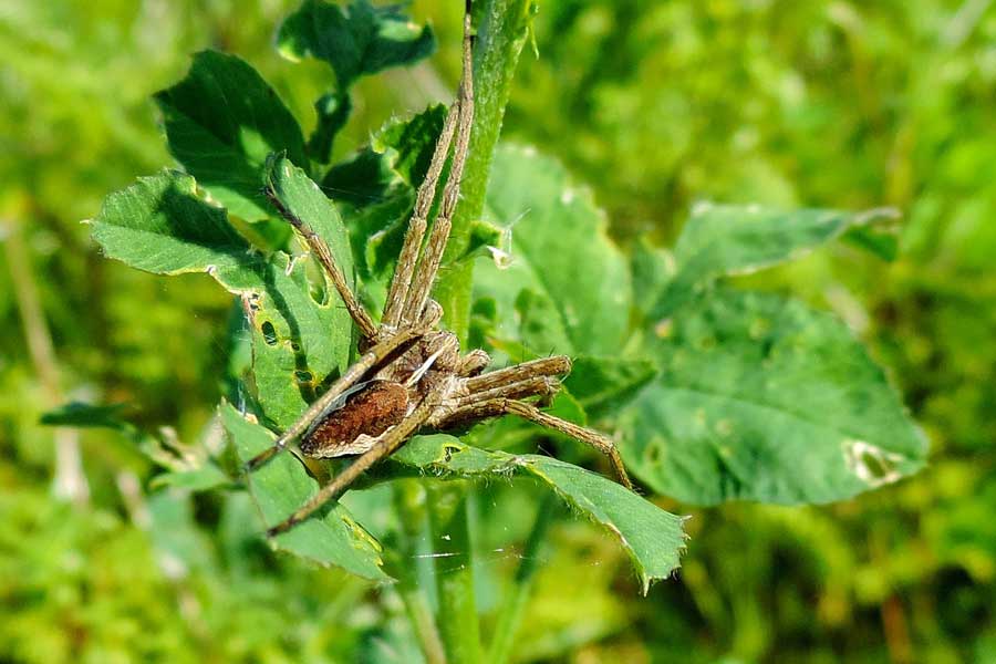
[{"label": "reddish-brown oval abdomen of the spider with pale edges", "polygon": [[371,381],[346,398],[301,438],[301,452],[312,458],[362,454],[373,439],[401,422],[408,409],[408,391],[395,381]]}]

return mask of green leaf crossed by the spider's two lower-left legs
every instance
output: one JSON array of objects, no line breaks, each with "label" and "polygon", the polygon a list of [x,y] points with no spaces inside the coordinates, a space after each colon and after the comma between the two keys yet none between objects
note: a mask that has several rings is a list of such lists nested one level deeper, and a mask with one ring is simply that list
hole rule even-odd
[{"label": "green leaf crossed by the spider's two lower-left legs", "polygon": [[[225,430],[245,463],[273,444],[274,436],[236,411],[220,406]],[[318,483],[290,453],[280,454],[248,478],[249,491],[264,527],[270,528],[313,496]],[[374,581],[388,581],[381,569],[381,546],[340,504],[332,502],[321,516],[300,523],[272,540],[280,549],[322,564],[334,564]]]}]

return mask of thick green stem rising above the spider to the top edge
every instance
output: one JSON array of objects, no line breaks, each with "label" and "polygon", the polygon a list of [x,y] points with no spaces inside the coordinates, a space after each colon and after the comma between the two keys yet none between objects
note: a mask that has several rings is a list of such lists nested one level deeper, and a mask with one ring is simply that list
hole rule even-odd
[{"label": "thick green stem rising above the spider to the top edge", "polygon": [[474,129],[470,151],[460,184],[460,201],[453,219],[444,270],[435,298],[445,311],[447,326],[467,341],[474,263],[460,260],[470,243],[471,224],[484,211],[491,158],[519,53],[529,33],[533,0],[477,0],[481,11],[474,51]]}]

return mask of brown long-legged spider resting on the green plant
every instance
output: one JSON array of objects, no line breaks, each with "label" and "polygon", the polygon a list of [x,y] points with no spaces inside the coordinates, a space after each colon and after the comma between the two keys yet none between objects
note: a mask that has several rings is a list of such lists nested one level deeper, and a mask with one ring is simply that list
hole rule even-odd
[{"label": "brown long-legged spider resting on the green plant", "polygon": [[[559,377],[570,373],[569,357],[556,355],[484,373],[490,363],[488,354],[479,349],[461,354],[456,335],[438,326],[443,308],[429,298],[429,292],[449,238],[474,121],[470,10],[471,0],[467,0],[457,97],[447,112],[416,194],[380,325],[350,290],[324,240],[287,209],[273,190],[266,191],[332,281],[360,331],[363,352],[272,447],[247,464],[249,471],[258,468],[298,437],[301,453],[311,458],[360,455],[305,505],[270,528],[269,537],[290,530],[339,497],[360,475],[394,454],[419,430],[466,427],[501,415],[517,415],[591,445],[608,456],[620,483],[632,488],[611,439],[539,408],[559,390]],[[450,147],[449,175],[426,241],[429,210]],[[523,401],[528,398],[537,401]]]}]

